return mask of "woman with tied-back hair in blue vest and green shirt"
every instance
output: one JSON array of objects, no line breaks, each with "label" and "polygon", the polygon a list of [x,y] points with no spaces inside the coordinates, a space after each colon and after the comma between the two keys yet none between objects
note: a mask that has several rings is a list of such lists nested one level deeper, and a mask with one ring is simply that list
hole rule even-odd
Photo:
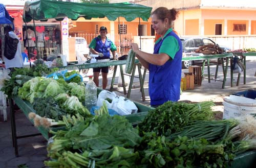
[{"label": "woman with tied-back hair in blue vest and green shirt", "polygon": [[157,8],[152,13],[153,29],[161,35],[155,43],[154,54],[142,52],[138,44],[132,43],[140,63],[150,71],[148,91],[152,107],[180,99],[182,44],[170,28],[177,14],[175,9],[165,7]]}]

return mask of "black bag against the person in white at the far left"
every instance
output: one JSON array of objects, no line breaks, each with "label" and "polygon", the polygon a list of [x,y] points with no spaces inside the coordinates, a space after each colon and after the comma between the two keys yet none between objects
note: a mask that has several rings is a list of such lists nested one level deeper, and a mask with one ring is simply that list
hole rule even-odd
[{"label": "black bag against the person in white at the far left", "polygon": [[19,40],[9,36],[9,33],[5,35],[5,57],[9,60],[13,59],[17,51]]}]

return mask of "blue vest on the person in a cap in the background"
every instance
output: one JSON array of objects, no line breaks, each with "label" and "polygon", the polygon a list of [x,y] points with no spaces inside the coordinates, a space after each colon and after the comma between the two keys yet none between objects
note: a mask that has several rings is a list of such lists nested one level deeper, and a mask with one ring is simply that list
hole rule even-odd
[{"label": "blue vest on the person in a cap in the background", "polygon": [[96,46],[95,46],[95,51],[98,53],[103,53],[103,57],[96,57],[96,59],[108,59],[110,58],[110,47],[111,47],[111,40],[108,38],[105,40],[105,44],[102,43],[101,39],[96,37]]}]

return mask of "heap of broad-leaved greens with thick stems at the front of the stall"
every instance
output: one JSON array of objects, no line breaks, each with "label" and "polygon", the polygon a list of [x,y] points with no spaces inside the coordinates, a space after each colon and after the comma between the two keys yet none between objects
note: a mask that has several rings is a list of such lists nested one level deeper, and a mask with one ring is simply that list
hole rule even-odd
[{"label": "heap of broad-leaved greens with thick stems at the front of the stall", "polygon": [[[135,167],[139,157],[138,131],[123,116],[107,114],[87,119],[67,119],[67,131],[50,133],[49,167]],[[71,124],[72,123],[72,124]]]}]

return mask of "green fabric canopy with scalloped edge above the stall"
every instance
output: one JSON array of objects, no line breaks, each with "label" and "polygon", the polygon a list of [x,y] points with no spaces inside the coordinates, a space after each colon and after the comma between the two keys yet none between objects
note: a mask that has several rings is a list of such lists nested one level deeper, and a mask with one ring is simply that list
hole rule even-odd
[{"label": "green fabric canopy with scalloped edge above the stall", "polygon": [[27,1],[23,9],[23,20],[26,22],[32,19],[55,18],[62,20],[64,17],[72,20],[77,20],[79,17],[86,19],[107,17],[109,20],[116,20],[120,16],[127,21],[132,21],[137,17],[147,21],[151,10],[151,7],[131,3],[81,4],[49,0]]}]

